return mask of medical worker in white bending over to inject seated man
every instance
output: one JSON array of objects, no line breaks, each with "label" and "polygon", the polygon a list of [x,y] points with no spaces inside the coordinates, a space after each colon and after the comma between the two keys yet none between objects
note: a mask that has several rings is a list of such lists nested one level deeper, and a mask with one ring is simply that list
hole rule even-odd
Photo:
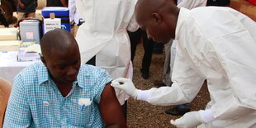
[{"label": "medical worker in white bending over to inject seated man", "polygon": [[129,79],[118,78],[113,87],[137,100],[169,106],[192,102],[206,79],[211,102],[205,110],[171,120],[174,126],[256,127],[254,21],[229,7],[189,11],[170,0],[139,0],[135,17],[149,38],[163,43],[178,40],[173,84],[142,91]]}]

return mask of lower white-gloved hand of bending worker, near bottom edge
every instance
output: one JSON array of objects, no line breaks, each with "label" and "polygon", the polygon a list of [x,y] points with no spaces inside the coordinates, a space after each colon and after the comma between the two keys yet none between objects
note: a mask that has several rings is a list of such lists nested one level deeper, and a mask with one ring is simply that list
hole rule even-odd
[{"label": "lower white-gloved hand of bending worker, near bottom edge", "polygon": [[177,120],[171,120],[171,124],[178,128],[194,128],[204,123],[201,120],[200,111],[187,112]]}]

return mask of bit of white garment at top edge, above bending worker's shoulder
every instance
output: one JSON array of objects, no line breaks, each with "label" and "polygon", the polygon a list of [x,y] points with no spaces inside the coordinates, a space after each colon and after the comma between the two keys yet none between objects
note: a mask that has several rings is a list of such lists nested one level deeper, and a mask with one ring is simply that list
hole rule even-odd
[{"label": "bit of white garment at top edge, above bending worker's shoulder", "polygon": [[178,3],[177,7],[184,7],[187,9],[192,9],[195,7],[206,7],[207,0],[183,0],[182,2]]}]

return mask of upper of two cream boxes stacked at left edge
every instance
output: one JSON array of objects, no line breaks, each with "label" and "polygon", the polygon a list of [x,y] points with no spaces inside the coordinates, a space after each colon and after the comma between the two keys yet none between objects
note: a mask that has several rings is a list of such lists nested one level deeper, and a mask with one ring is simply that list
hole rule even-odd
[{"label": "upper of two cream boxes stacked at left edge", "polygon": [[0,40],[18,40],[17,28],[0,28]]}]

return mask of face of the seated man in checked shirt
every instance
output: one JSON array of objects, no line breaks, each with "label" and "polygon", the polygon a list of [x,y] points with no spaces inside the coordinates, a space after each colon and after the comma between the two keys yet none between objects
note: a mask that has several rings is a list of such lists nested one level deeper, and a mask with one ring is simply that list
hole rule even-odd
[{"label": "face of the seated man in checked shirt", "polygon": [[73,83],[80,68],[80,54],[74,45],[68,51],[54,51],[45,58],[45,66],[49,69],[51,77],[56,83]]}]

